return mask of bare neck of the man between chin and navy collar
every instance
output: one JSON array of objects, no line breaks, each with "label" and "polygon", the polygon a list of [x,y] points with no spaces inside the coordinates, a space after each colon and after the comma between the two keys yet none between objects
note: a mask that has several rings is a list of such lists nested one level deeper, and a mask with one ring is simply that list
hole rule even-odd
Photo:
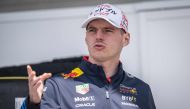
[{"label": "bare neck of the man between chin and navy collar", "polygon": [[107,78],[112,77],[116,73],[119,64],[118,58],[107,61],[96,61],[93,58],[89,57],[89,61],[93,64],[101,65]]}]

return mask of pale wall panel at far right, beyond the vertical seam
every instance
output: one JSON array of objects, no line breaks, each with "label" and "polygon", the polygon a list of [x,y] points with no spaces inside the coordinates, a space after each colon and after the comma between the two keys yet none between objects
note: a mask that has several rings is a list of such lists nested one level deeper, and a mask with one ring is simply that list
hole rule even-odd
[{"label": "pale wall panel at far right, beyond the vertical seam", "polygon": [[158,109],[190,109],[190,2],[171,4],[139,13],[142,78]]}]

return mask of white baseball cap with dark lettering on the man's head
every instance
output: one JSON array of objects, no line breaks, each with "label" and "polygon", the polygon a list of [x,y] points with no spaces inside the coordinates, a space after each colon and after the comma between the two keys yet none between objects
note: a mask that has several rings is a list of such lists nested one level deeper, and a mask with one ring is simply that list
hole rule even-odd
[{"label": "white baseball cap with dark lettering on the man's head", "polygon": [[82,28],[86,28],[89,22],[95,19],[104,19],[117,28],[128,31],[128,20],[123,11],[111,4],[101,4],[94,8],[88,18],[83,22]]}]

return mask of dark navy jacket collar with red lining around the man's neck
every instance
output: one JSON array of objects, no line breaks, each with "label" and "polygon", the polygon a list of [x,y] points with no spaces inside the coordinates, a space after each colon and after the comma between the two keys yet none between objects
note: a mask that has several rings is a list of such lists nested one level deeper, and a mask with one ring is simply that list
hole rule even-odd
[{"label": "dark navy jacket collar with red lining around the man's neck", "polygon": [[119,86],[124,78],[125,72],[120,62],[115,75],[106,78],[103,67],[97,64],[93,64],[88,60],[88,56],[84,56],[79,67],[84,71],[85,75],[89,76],[96,85],[104,86],[106,84],[111,84],[113,88]]}]

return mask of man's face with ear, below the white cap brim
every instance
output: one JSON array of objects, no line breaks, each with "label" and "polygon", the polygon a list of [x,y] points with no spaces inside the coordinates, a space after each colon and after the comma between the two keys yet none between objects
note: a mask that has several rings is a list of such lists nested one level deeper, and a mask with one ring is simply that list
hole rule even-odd
[{"label": "man's face with ear, below the white cap brim", "polygon": [[86,28],[89,59],[95,62],[119,60],[121,50],[129,43],[129,34],[103,19],[91,21]]}]

